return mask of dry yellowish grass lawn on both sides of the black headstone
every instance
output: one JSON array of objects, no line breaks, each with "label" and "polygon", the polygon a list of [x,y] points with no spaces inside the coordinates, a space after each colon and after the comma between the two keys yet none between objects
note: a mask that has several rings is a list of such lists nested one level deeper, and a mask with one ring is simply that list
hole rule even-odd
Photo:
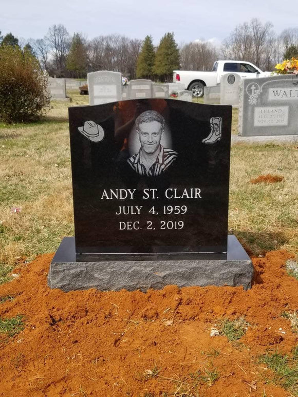
[{"label": "dry yellowish grass lawn on both sides of the black headstone", "polygon": [[[51,102],[40,122],[0,124],[0,283],[7,280],[5,269],[55,251],[74,234],[67,109],[88,104],[88,96],[77,92],[68,92],[70,103]],[[236,109],[232,134],[237,123]],[[232,147],[229,232],[254,254],[297,251],[297,160],[295,145]],[[250,183],[266,174],[284,180]]]}]

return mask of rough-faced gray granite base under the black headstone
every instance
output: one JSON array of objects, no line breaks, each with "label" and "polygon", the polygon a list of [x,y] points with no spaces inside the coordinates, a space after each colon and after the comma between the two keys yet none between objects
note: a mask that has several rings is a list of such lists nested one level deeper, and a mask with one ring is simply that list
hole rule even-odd
[{"label": "rough-faced gray granite base under the black headstone", "polygon": [[[49,270],[48,285],[63,291],[147,291],[166,285],[251,287],[252,262],[234,235],[228,236],[226,259],[76,261],[74,237],[65,237]],[[124,255],[123,255],[124,257]]]}]

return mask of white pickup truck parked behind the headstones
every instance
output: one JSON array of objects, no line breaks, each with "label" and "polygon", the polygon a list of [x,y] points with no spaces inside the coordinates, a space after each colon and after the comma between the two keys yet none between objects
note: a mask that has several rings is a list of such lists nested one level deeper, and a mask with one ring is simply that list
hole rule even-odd
[{"label": "white pickup truck parked behind the headstones", "polygon": [[182,83],[184,88],[192,91],[194,97],[203,97],[204,87],[220,83],[222,74],[237,73],[245,77],[267,77],[271,72],[263,72],[258,67],[246,61],[216,61],[211,72],[191,70],[174,70],[173,82]]}]

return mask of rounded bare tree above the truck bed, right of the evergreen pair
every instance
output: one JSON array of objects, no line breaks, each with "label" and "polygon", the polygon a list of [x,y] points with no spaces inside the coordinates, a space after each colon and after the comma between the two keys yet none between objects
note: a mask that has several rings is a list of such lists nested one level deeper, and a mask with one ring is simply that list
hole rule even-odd
[{"label": "rounded bare tree above the truck bed, right of the evergreen pair", "polygon": [[210,42],[196,41],[180,48],[181,68],[184,70],[211,70],[218,53]]}]

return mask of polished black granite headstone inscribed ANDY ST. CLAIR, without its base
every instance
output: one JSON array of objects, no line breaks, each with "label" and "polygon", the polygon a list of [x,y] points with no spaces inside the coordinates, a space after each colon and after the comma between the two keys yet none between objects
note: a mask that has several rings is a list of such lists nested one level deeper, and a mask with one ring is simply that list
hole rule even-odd
[{"label": "polished black granite headstone inscribed ANDY ST. CLAIR, without its base", "polygon": [[231,116],[171,99],[69,108],[76,263],[227,261]]}]

